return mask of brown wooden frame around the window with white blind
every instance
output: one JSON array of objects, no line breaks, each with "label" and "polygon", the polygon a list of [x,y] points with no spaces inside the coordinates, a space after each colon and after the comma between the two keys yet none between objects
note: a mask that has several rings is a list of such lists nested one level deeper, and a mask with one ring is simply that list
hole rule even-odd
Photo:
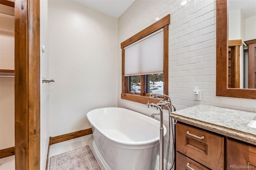
[{"label": "brown wooden frame around the window with white blind", "polygon": [[133,35],[129,39],[126,39],[121,43],[122,49],[122,93],[121,99],[130,100],[133,102],[138,102],[141,104],[146,104],[148,101],[150,102],[158,102],[159,99],[150,98],[149,94],[146,94],[146,75],[140,76],[140,93],[131,94],[129,92],[129,77],[124,76],[124,47],[154,33],[155,31],[163,28],[164,29],[164,94],[168,95],[168,34],[169,34],[169,24],[170,24],[170,14],[165,16],[159,21],[156,21],[152,25],[146,27],[139,33]]}]

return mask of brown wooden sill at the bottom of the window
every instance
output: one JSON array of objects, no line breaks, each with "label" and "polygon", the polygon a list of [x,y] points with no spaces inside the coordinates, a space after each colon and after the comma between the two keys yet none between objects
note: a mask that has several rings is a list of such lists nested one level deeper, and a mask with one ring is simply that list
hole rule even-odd
[{"label": "brown wooden sill at the bottom of the window", "polygon": [[150,103],[158,103],[160,99],[151,98],[149,96],[140,96],[138,94],[130,94],[130,93],[121,93],[121,99],[130,100],[132,102],[137,102],[141,104],[147,104],[148,101]]}]

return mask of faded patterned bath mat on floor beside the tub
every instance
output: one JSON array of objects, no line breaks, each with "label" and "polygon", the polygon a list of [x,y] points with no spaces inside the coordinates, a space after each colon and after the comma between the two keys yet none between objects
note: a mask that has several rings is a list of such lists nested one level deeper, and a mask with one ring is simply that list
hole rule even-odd
[{"label": "faded patterned bath mat on floor beside the tub", "polygon": [[100,170],[89,145],[50,157],[49,170]]}]

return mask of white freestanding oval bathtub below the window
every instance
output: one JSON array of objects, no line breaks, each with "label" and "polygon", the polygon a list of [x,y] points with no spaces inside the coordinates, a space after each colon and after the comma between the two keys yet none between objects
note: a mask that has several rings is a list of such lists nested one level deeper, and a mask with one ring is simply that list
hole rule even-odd
[{"label": "white freestanding oval bathtub below the window", "polygon": [[[87,113],[93,148],[106,170],[153,170],[159,154],[159,121],[119,107]],[[164,127],[164,135],[166,127]]]}]

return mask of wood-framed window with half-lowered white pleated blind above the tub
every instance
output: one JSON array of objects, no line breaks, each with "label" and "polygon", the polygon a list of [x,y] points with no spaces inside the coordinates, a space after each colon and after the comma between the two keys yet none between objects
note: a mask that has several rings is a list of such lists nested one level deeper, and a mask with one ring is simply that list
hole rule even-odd
[{"label": "wood-framed window with half-lowered white pleated blind above the tub", "polygon": [[170,14],[121,43],[121,98],[156,102],[150,93],[168,95],[168,25]]}]

